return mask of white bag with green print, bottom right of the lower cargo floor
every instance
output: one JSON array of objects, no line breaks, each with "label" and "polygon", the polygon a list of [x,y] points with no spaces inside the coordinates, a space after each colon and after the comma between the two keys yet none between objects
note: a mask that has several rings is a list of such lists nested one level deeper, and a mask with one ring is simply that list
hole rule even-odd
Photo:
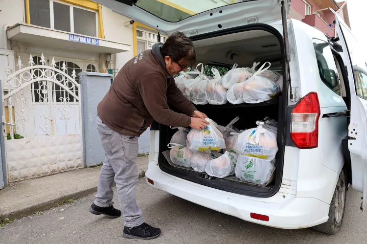
[{"label": "white bag with green print, bottom right of the lower cargo floor", "polygon": [[275,168],[275,159],[267,160],[257,157],[239,155],[236,164],[236,177],[253,184],[265,185]]}]

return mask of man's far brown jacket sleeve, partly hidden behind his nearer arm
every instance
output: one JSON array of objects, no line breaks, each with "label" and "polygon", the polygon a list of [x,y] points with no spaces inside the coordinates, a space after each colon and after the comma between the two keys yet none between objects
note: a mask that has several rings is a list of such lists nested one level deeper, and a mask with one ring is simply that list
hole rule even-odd
[{"label": "man's far brown jacket sleeve, partly hidden behind his nearer arm", "polygon": [[181,90],[177,88],[174,79],[171,79],[167,87],[167,98],[177,109],[191,116],[196,110],[195,106],[184,97]]}]

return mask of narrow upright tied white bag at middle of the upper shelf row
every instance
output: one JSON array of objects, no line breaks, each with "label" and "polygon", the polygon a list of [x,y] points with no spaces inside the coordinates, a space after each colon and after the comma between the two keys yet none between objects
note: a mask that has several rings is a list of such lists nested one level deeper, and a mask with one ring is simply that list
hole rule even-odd
[{"label": "narrow upright tied white bag at middle of the upper shelf row", "polygon": [[209,104],[222,105],[227,103],[227,89],[222,85],[221,76],[216,68],[212,68],[213,79],[209,80],[205,89],[206,100]]}]

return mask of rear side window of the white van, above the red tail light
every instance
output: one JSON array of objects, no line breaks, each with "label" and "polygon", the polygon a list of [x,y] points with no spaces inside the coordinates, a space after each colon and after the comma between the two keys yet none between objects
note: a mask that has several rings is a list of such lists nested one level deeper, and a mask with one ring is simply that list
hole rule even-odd
[{"label": "rear side window of the white van, above the red tail light", "polygon": [[329,44],[319,39],[313,39],[313,44],[321,81],[329,89],[342,96],[340,75]]}]

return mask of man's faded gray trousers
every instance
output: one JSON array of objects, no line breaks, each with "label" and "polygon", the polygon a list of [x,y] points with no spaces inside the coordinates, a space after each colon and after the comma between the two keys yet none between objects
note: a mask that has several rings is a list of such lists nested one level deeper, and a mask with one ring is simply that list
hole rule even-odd
[{"label": "man's faded gray trousers", "polygon": [[135,194],[138,183],[138,137],[111,130],[98,116],[97,129],[106,157],[99,174],[94,204],[100,207],[111,206],[115,180],[124,224],[127,227],[138,226],[144,222]]}]

